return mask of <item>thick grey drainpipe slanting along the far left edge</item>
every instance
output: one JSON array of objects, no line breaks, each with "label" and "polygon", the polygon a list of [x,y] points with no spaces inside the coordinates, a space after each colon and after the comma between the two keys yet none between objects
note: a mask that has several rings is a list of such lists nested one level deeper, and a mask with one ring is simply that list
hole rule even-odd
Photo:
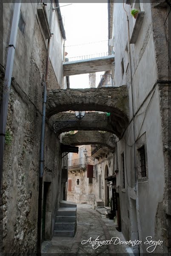
[{"label": "thick grey drainpipe slanting along the far left edge", "polygon": [[0,189],[2,183],[2,172],[3,172],[3,152],[5,145],[5,134],[6,134],[6,122],[7,122],[7,114],[8,114],[8,106],[9,106],[9,94],[11,87],[11,76],[14,64],[14,53],[16,47],[16,39],[17,39],[17,29],[18,22],[20,17],[20,7],[21,2],[19,0],[18,3],[14,5],[14,14],[11,25],[11,35],[8,46],[8,55],[6,61],[6,72],[3,86],[3,99],[1,102],[0,108]]}]

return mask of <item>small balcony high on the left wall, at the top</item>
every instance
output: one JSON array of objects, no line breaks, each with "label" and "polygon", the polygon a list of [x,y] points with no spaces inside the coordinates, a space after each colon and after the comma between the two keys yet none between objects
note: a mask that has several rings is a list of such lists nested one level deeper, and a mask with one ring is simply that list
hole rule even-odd
[{"label": "small balcony high on the left wall, at the top", "polygon": [[53,1],[40,1],[37,5],[37,14],[39,16],[43,32],[46,39],[51,38],[51,18],[53,12]]}]

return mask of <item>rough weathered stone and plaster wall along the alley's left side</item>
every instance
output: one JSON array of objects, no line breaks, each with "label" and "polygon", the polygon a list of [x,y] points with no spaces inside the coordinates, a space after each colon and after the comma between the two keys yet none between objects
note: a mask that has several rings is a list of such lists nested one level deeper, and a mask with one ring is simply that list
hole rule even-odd
[{"label": "rough weathered stone and plaster wall along the alley's left side", "polygon": [[[5,66],[14,4],[4,3],[3,7]],[[12,81],[7,120],[11,143],[5,145],[3,166],[4,253],[33,253],[37,245],[41,111],[47,49],[36,10],[36,3],[21,4],[26,30],[24,36],[19,29],[17,32],[12,73],[20,87]],[[50,62],[48,88],[63,87],[59,84],[62,83],[60,79],[57,79]],[[61,155],[59,139],[47,123],[45,134],[43,185],[44,182],[49,184],[45,238],[51,239],[56,207],[60,201]]]}]

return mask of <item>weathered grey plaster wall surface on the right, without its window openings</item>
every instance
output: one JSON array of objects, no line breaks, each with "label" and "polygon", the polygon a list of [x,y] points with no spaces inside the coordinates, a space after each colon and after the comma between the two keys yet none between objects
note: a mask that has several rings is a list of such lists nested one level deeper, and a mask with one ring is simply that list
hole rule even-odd
[{"label": "weathered grey plaster wall surface on the right, without its window openings", "polygon": [[[134,18],[130,15],[130,5],[124,5],[128,13],[130,25],[130,38],[134,26]],[[165,188],[165,162],[162,145],[162,126],[160,113],[160,94],[157,79],[166,79],[166,62],[160,62],[161,41],[165,41],[163,30],[166,8],[151,9],[150,3],[143,3],[145,16],[135,44],[130,45],[131,67],[129,61],[128,26],[126,12],[123,4],[114,4],[114,38],[115,38],[115,85],[127,84],[129,90],[130,119],[132,118],[131,100],[131,75],[134,99],[134,125],[137,172],[140,145],[145,144],[148,175],[142,180],[134,174],[134,135],[132,122],[128,126],[123,139],[117,143],[119,173],[117,174],[117,186],[120,192],[122,232],[126,239],[138,239],[140,252],[146,253],[143,242],[146,236],[152,236],[165,241],[165,228],[162,218],[163,194]],[[160,12],[160,15],[159,15]],[[158,17],[160,16],[160,19]],[[120,19],[123,22],[120,22]],[[157,22],[157,23],[156,23]],[[159,27],[159,30],[157,29]],[[159,46],[160,45],[160,46]],[[164,42],[165,45],[165,42]],[[127,46],[127,47],[126,47]],[[164,47],[165,55],[166,47]],[[122,75],[121,61],[124,62],[124,74]],[[165,125],[164,125],[165,126]],[[121,154],[124,153],[125,163],[125,189],[123,188],[123,163]],[[134,192],[136,184],[136,192]],[[129,215],[128,215],[129,211]],[[136,221],[137,218],[137,221]],[[156,225],[160,232],[157,232]],[[137,234],[137,231],[139,236]],[[166,252],[165,247],[158,247],[156,253]]]}]

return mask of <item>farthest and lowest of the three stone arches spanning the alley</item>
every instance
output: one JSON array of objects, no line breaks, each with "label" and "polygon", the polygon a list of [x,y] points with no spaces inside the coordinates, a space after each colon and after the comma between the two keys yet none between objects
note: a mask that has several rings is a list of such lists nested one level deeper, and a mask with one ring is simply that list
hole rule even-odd
[{"label": "farthest and lowest of the three stone arches spanning the alley", "polygon": [[100,131],[78,131],[75,134],[65,134],[62,143],[69,145],[92,145],[99,144],[114,150],[113,134]]}]

